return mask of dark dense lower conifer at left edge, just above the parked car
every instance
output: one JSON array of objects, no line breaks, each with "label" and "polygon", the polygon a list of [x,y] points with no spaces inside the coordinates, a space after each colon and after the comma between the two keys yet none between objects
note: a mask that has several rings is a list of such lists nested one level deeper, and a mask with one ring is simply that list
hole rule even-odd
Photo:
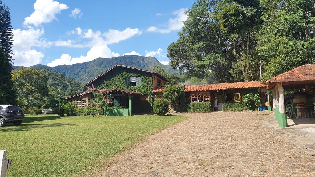
[{"label": "dark dense lower conifer at left edge, just above the parked car", "polygon": [[0,68],[0,104],[14,104],[15,91],[11,81],[11,65],[3,50],[0,50]]}]

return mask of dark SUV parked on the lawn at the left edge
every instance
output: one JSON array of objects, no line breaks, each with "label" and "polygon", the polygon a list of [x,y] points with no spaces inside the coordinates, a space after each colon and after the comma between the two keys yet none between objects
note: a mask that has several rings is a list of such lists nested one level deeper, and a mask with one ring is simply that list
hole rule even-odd
[{"label": "dark SUV parked on the lawn at the left edge", "polygon": [[12,122],[14,125],[20,125],[24,120],[24,113],[17,105],[0,105],[0,127],[6,123]]}]

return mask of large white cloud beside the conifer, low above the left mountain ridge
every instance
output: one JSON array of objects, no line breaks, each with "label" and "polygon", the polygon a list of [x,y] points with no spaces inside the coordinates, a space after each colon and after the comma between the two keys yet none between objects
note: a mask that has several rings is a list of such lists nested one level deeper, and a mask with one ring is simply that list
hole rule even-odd
[{"label": "large white cloud beside the conifer, low above the left mountain ridge", "polygon": [[34,29],[29,27],[27,30],[13,29],[13,53],[15,66],[32,66],[38,64],[44,54],[31,47],[50,47],[51,42],[47,42],[41,36],[44,29]]}]

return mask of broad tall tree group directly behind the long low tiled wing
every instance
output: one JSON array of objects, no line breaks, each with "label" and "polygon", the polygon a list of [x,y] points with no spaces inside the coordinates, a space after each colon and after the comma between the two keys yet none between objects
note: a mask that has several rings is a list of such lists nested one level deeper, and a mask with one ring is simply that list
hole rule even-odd
[{"label": "broad tall tree group directly behind the long low tiled wing", "polygon": [[186,14],[180,38],[168,47],[170,66],[214,82],[259,79],[259,1],[198,0]]}]

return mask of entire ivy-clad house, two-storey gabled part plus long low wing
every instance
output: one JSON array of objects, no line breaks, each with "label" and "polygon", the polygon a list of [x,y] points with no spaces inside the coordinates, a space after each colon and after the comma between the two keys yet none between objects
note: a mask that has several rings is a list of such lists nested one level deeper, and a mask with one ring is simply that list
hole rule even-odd
[{"label": "entire ivy-clad house, two-storey gabled part plus long low wing", "polygon": [[[117,115],[131,115],[152,111],[152,103],[157,98],[163,98],[163,91],[169,80],[158,72],[131,66],[115,65],[96,76],[84,86],[91,88],[115,89],[107,91],[109,106],[120,112]],[[214,99],[218,100],[218,110],[227,110],[230,103],[239,103],[242,106],[242,96],[248,93],[259,93],[263,104],[266,100],[267,85],[262,81],[239,83],[213,83],[202,85],[185,85],[185,106],[197,102],[209,102],[209,112],[214,111]],[[76,103],[76,107],[87,106],[88,100],[93,98],[89,91],[68,96],[64,100]],[[238,105],[238,104],[236,104]],[[235,105],[234,105],[235,106]],[[170,105],[169,111],[178,111],[179,107]],[[230,109],[228,109],[230,110]]]}]

